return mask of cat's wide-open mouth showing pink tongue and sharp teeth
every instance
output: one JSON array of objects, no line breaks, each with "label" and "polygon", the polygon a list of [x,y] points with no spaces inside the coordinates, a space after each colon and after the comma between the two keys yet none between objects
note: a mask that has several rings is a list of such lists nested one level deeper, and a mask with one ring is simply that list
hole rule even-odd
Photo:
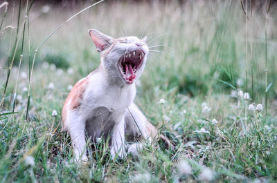
[{"label": "cat's wide-open mouth showing pink tongue and sharp teeth", "polygon": [[118,61],[118,68],[127,84],[134,83],[136,71],[141,68],[145,53],[143,50],[129,50]]}]

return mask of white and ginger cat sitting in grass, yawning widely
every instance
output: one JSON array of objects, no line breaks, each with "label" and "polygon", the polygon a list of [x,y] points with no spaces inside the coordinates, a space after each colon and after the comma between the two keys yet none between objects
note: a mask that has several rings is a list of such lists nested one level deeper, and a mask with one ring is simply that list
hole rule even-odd
[{"label": "white and ginger cat sitting in grass, yawning widely", "polygon": [[[149,52],[146,37],[114,39],[95,29],[89,30],[89,36],[100,52],[101,64],[80,79],[66,98],[62,131],[69,131],[77,161],[88,160],[85,131],[92,142],[109,137],[111,157],[124,158],[125,137],[148,139],[156,138],[158,133],[134,104],[134,81],[143,73]],[[160,137],[170,144],[166,137]]]}]

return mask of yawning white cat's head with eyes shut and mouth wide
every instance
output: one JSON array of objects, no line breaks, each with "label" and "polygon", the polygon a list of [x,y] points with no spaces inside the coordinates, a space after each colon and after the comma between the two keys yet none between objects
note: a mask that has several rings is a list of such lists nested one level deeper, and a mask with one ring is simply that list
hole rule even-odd
[{"label": "yawning white cat's head with eyes shut and mouth wide", "polygon": [[95,29],[89,30],[101,62],[111,81],[133,84],[141,76],[149,48],[146,37],[120,37],[114,39]]}]

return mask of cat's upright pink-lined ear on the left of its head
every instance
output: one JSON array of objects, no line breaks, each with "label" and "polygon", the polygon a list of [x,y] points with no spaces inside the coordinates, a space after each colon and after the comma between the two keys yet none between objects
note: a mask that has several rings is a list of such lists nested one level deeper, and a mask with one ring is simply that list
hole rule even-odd
[{"label": "cat's upright pink-lined ear on the left of its head", "polygon": [[89,29],[89,36],[91,37],[93,43],[96,46],[96,50],[101,52],[106,48],[109,48],[111,42],[114,38],[104,35],[103,33],[99,32],[95,29]]}]

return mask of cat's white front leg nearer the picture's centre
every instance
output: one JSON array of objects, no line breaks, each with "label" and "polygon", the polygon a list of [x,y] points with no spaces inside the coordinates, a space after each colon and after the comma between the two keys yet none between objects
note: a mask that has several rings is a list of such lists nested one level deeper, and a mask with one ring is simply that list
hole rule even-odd
[{"label": "cat's white front leg nearer the picture's centre", "polygon": [[111,157],[114,159],[116,155],[121,159],[126,156],[125,153],[125,131],[124,131],[124,115],[121,116],[111,133]]}]

